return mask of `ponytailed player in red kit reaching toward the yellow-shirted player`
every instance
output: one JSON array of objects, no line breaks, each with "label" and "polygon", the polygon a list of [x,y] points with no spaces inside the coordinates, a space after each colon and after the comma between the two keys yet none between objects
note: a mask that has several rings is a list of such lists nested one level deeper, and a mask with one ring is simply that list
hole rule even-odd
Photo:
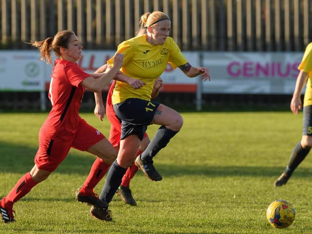
[{"label": "ponytailed player in red kit reaching toward the yellow-shirted player", "polygon": [[[111,164],[117,156],[114,147],[97,129],[79,116],[85,88],[100,92],[119,73],[124,55],[117,53],[114,67],[103,74],[87,74],[76,63],[82,45],[73,31],[58,32],[53,38],[30,42],[39,48],[42,60],[52,64],[51,50],[58,57],[51,75],[49,98],[52,109],[39,131],[39,150],[35,165],[20,178],[8,195],[0,200],[0,212],[5,223],[15,221],[13,205],[39,182],[45,180],[67,156],[70,148],[87,151]],[[107,203],[95,194],[82,197],[100,209]]]}]

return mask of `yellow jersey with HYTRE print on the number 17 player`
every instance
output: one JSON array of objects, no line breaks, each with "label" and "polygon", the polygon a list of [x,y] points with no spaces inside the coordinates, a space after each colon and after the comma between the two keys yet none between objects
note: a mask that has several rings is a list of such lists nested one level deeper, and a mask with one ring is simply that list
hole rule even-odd
[{"label": "yellow jersey with HYTRE print on the number 17 player", "polygon": [[[176,42],[168,37],[162,45],[152,45],[146,41],[146,35],[123,41],[118,45],[118,53],[125,55],[120,71],[131,78],[140,79],[146,84],[140,89],[133,89],[125,82],[116,82],[112,95],[113,104],[127,98],[150,100],[154,81],[166,69],[167,63],[175,69],[187,63]],[[114,57],[107,62],[113,65]]]}]

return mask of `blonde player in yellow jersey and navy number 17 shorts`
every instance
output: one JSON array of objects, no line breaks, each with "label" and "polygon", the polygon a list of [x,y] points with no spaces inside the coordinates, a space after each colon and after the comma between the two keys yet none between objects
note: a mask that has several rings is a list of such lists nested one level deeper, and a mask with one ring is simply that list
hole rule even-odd
[{"label": "blonde player in yellow jersey and navy number 17 shorts", "polygon": [[[134,89],[125,82],[117,81],[114,88],[114,111],[122,122],[117,160],[109,169],[100,195],[100,199],[107,203],[116,193],[127,168],[136,159],[138,147],[150,124],[158,124],[160,128],[135,163],[148,178],[155,181],[162,179],[153,165],[153,157],[180,131],[183,124],[182,117],[175,110],[150,100],[154,81],[165,70],[167,63],[173,68],[179,67],[188,77],[201,75],[204,81],[210,80],[208,69],[192,66],[182,55],[176,42],[169,37],[171,20],[166,14],[160,11],[145,13],[141,16],[140,23],[141,28],[147,28],[147,33],[123,41],[117,48],[118,53],[125,55],[121,73],[140,79],[145,85]],[[113,58],[108,64],[113,65]],[[107,220],[105,210],[96,210],[93,215]]]}]

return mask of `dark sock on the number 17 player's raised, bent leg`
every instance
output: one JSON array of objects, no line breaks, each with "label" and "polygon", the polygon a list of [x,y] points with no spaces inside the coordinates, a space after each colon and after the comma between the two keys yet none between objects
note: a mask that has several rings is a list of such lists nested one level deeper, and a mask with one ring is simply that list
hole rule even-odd
[{"label": "dark sock on the number 17 player's raised, bent leg", "polygon": [[151,160],[177,133],[166,128],[164,125],[158,128],[155,136],[141,154],[141,160]]}]

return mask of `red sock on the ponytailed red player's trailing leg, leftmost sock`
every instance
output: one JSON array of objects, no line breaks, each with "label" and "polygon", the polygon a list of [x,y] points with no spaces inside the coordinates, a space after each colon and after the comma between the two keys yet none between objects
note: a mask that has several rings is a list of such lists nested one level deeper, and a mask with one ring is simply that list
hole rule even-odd
[{"label": "red sock on the ponytailed red player's trailing leg, leftmost sock", "polygon": [[11,192],[5,197],[5,203],[7,203],[9,206],[13,206],[13,203],[17,202],[24,195],[28,194],[36,184],[38,183],[33,180],[33,178],[30,176],[30,173],[28,172],[20,178]]}]

